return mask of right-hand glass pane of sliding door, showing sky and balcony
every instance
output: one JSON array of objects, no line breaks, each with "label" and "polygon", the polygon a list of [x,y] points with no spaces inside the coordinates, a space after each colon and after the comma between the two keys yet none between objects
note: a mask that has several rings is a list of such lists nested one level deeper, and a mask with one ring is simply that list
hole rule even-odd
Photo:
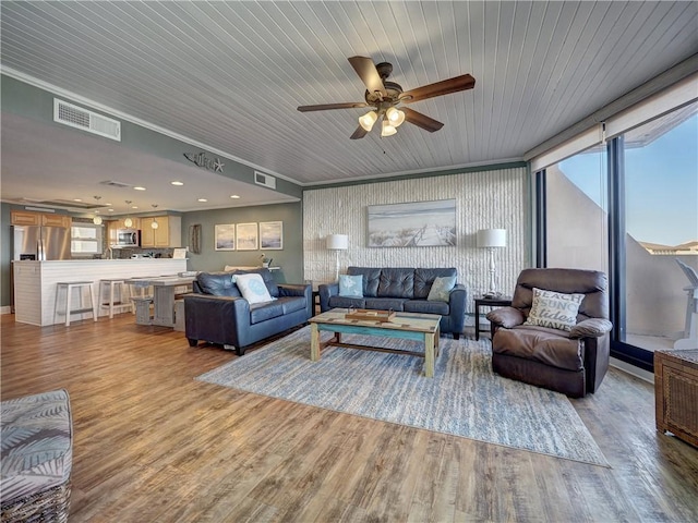
[{"label": "right-hand glass pane of sliding door, showing sky and balcony", "polygon": [[686,337],[682,264],[698,271],[698,105],[627,132],[625,163],[625,337],[647,351]]}]

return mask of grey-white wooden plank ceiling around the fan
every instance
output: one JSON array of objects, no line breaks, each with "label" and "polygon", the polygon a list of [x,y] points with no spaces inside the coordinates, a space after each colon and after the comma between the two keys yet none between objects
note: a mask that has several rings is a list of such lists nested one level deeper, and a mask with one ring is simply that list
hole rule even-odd
[{"label": "grey-white wooden plank ceiling around the fan", "polygon": [[[696,2],[27,2],[1,4],[3,70],[95,100],[301,184],[520,159],[694,54]],[[445,125],[374,129],[348,57],[411,89]],[[4,171],[4,170],[3,170]]]}]

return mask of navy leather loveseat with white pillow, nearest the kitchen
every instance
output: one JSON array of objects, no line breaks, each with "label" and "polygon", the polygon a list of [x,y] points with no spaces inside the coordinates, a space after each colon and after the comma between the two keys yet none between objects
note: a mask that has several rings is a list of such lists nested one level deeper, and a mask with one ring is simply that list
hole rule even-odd
[{"label": "navy leather loveseat with white pillow, nearest the kitchen", "polygon": [[[241,273],[261,275],[275,300],[250,304],[233,281]],[[304,324],[312,315],[311,285],[277,284],[268,269],[200,272],[193,290],[184,295],[184,330],[191,346],[203,340],[234,346],[241,356],[248,345]]]}]

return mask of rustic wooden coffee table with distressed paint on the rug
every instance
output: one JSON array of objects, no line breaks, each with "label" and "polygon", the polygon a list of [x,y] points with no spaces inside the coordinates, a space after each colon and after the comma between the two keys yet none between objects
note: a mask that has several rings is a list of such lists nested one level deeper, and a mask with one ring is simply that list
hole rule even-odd
[{"label": "rustic wooden coffee table with distressed paint on the rug", "polygon": [[[393,352],[396,354],[409,354],[424,358],[424,376],[434,377],[434,361],[438,356],[438,324],[441,316],[435,314],[396,313],[390,321],[373,321],[347,319],[346,308],[333,308],[309,319],[310,321],[310,358],[313,362],[320,360],[321,352],[326,346],[345,346],[363,351]],[[335,336],[327,341],[320,341],[320,332],[327,330]],[[384,349],[381,346],[358,345],[342,343],[341,335],[382,336],[385,338],[399,338],[404,340],[417,340],[424,342],[424,352],[402,351],[397,349]]]}]

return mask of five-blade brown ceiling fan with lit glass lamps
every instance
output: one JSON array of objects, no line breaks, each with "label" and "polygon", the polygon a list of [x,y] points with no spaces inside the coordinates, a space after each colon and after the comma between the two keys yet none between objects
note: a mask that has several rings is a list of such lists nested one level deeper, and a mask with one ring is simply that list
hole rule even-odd
[{"label": "five-blade brown ceiling fan with lit glass lamps", "polygon": [[[372,110],[359,118],[359,126],[351,135],[351,139],[363,138],[369,131],[373,129],[373,124],[381,119],[383,120],[381,123],[381,136],[394,135],[397,133],[398,125],[406,121],[430,133],[438,131],[444,126],[443,123],[408,107],[401,107],[400,105],[413,104],[428,98],[434,98],[435,96],[472,89],[476,85],[476,78],[469,74],[464,74],[404,92],[399,84],[388,82],[387,80],[393,72],[393,64],[381,62],[375,65],[373,60],[366,57],[351,57],[349,63],[351,63],[353,70],[366,86],[364,95],[366,101],[300,106],[298,110],[309,112],[325,111],[327,109],[372,107]],[[399,109],[398,106],[400,106]]]}]

